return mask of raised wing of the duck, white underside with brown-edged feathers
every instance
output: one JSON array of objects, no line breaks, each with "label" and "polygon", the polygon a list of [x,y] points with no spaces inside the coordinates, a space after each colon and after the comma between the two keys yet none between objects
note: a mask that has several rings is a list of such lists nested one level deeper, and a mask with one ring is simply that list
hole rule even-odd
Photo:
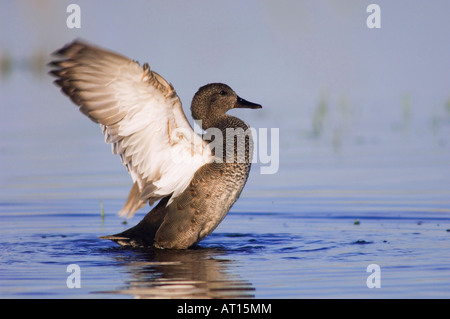
[{"label": "raised wing of the duck, white underside with brown-edged feathers", "polygon": [[[80,111],[99,123],[105,141],[133,178],[120,214],[131,217],[147,201],[171,195],[189,184],[213,159],[208,145],[184,115],[173,86],[148,64],[76,40],[55,52],[55,83]],[[171,202],[169,200],[169,203]]]}]

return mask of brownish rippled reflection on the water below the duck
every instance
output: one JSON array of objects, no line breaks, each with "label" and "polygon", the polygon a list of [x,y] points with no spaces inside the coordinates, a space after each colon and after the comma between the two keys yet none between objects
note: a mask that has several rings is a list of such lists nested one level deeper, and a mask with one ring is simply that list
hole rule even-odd
[{"label": "brownish rippled reflection on the water below the duck", "polygon": [[[233,261],[215,248],[134,251],[125,257],[128,287],[114,293],[136,298],[254,298],[251,283],[233,274]],[[117,256],[116,256],[117,257]],[[136,257],[136,256],[134,256]]]}]

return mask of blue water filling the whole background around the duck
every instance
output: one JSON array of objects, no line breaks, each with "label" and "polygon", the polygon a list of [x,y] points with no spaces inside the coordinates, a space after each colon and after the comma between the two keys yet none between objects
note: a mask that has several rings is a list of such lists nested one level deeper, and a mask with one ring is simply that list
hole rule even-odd
[{"label": "blue water filling the whole background around the duck", "polygon": [[[450,297],[447,2],[377,1],[378,30],[361,1],[80,2],[80,29],[46,3],[0,2],[1,298]],[[279,128],[278,171],[255,164],[197,248],[99,239],[146,210],[122,223],[130,177],[45,74],[76,37],[149,62],[187,113],[223,81]]]}]

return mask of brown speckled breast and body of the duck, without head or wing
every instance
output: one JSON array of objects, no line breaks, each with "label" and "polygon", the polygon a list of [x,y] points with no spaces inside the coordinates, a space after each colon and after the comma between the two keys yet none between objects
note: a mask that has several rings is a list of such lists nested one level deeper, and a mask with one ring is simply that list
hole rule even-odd
[{"label": "brown speckled breast and body of the duck, without head or wing", "polygon": [[[250,172],[252,151],[251,133],[247,131],[248,126],[243,121],[227,116],[222,123],[217,124],[217,128],[223,128],[224,141],[227,128],[242,128],[242,131],[235,132],[238,132],[236,140],[246,143],[245,162],[227,162],[224,143],[222,161],[200,167],[185,191],[170,205],[166,206],[168,196],[136,226],[103,238],[113,240],[122,246],[186,249],[213,232],[245,186]],[[242,132],[247,132],[248,135],[239,136]],[[234,149],[236,151],[238,148]]]}]

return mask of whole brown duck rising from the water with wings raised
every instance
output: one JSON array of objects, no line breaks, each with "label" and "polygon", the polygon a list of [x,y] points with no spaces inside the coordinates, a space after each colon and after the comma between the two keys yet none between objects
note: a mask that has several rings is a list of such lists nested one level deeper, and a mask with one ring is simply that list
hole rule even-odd
[{"label": "whole brown duck rising from the water with wings raised", "polygon": [[239,198],[252,162],[250,127],[227,111],[261,105],[224,83],[206,84],[190,108],[198,132],[173,85],[148,63],[79,39],[53,55],[54,83],[100,125],[133,180],[119,215],[131,218],[156,203],[135,226],[100,238],[125,247],[188,249],[211,234]]}]

